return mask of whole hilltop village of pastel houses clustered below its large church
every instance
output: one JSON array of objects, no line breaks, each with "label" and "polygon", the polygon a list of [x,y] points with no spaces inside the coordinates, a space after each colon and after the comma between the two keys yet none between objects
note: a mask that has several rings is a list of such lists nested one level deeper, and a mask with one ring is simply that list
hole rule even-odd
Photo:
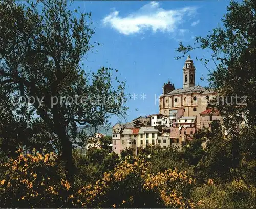
[{"label": "whole hilltop village of pastel houses clustered below its large church", "polygon": [[211,128],[214,120],[222,120],[218,111],[207,108],[216,94],[195,85],[193,60],[188,56],[183,66],[183,88],[175,89],[170,82],[163,85],[159,99],[159,113],[138,117],[129,123],[117,123],[112,129],[112,151],[158,145],[181,148],[182,141],[191,140],[198,129]]}]

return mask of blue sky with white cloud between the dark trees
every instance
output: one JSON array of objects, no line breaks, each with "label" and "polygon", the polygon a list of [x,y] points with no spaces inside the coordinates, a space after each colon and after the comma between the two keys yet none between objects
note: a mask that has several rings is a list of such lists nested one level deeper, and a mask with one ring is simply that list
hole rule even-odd
[{"label": "blue sky with white cloud between the dark trees", "polygon": [[[182,67],[176,61],[179,42],[193,44],[195,36],[205,36],[221,24],[230,1],[76,1],[74,7],[92,12],[97,46],[84,64],[94,71],[100,66],[118,69],[118,77],[127,83],[126,93],[137,98],[127,102],[127,121],[140,115],[159,112],[155,98],[168,79],[182,88]],[[73,6],[72,6],[73,7]],[[98,52],[96,53],[96,49]],[[196,66],[196,84],[207,86],[207,69],[195,57],[207,57],[207,51],[190,54]],[[211,66],[209,66],[211,67]],[[146,95],[144,100],[142,94]],[[136,110],[137,109],[137,110]],[[117,118],[111,119],[112,124]]]}]

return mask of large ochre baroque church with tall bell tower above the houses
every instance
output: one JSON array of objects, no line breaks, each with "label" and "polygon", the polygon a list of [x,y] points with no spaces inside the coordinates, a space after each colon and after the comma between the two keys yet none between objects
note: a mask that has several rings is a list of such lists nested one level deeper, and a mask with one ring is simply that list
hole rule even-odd
[{"label": "large ochre baroque church with tall bell tower above the houses", "polygon": [[188,55],[183,66],[183,88],[175,89],[170,82],[165,83],[159,100],[159,109],[160,114],[169,116],[170,111],[182,108],[184,117],[196,116],[196,126],[200,128],[200,113],[206,110],[207,102],[216,94],[214,91],[195,85],[195,72],[193,60]]}]

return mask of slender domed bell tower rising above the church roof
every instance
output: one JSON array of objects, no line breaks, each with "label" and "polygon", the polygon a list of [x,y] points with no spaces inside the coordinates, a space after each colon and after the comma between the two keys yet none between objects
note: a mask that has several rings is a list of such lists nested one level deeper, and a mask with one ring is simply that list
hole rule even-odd
[{"label": "slender domed bell tower rising above the church roof", "polygon": [[195,86],[195,70],[193,60],[188,55],[183,67],[183,89]]}]

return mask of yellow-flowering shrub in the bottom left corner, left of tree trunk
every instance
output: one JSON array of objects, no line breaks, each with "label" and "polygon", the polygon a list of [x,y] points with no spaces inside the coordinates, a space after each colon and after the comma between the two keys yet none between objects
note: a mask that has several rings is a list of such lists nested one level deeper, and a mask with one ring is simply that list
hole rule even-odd
[{"label": "yellow-flowering shrub in the bottom left corner, left of tree trunk", "polygon": [[1,207],[59,207],[71,185],[57,164],[53,152],[39,154],[17,151],[17,159],[1,165]]}]

